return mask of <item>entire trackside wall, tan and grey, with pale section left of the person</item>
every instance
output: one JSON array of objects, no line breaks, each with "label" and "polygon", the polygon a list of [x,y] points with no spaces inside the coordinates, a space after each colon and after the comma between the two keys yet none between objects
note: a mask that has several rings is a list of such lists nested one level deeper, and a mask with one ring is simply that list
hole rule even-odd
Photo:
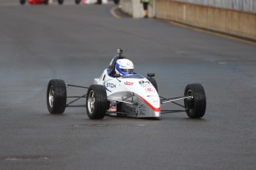
[{"label": "entire trackside wall, tan and grey, with pale section left of the person", "polygon": [[[134,18],[144,16],[140,0],[121,5]],[[149,16],[256,41],[255,0],[152,0]]]}]

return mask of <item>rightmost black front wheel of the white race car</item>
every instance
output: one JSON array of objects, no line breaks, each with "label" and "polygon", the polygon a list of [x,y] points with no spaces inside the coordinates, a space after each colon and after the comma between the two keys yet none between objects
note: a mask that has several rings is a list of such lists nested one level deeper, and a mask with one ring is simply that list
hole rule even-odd
[{"label": "rightmost black front wheel of the white race car", "polygon": [[188,84],[185,96],[193,96],[191,99],[184,99],[188,118],[203,118],[206,113],[206,92],[201,84]]}]

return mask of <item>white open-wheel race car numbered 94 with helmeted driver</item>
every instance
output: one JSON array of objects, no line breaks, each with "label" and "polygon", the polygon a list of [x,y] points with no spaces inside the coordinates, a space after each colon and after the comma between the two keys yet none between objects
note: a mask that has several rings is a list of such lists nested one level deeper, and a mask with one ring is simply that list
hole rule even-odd
[{"label": "white open-wheel race car numbered 94 with helmeted driver", "polygon": [[[122,55],[121,49],[118,53],[89,87],[65,84],[59,79],[50,80],[47,86],[48,111],[62,114],[67,107],[86,107],[90,119],[102,119],[105,115],[160,118],[161,114],[172,112],[186,112],[189,118],[202,118],[205,115],[206,94],[201,84],[188,84],[181,97],[164,98],[158,95],[154,73],[148,73],[147,78],[134,73],[133,63]],[[87,89],[87,92],[67,96],[67,89],[71,87]],[[75,104],[82,98],[86,98],[83,104]],[[163,110],[161,105],[165,103],[174,103],[182,109]]]}]

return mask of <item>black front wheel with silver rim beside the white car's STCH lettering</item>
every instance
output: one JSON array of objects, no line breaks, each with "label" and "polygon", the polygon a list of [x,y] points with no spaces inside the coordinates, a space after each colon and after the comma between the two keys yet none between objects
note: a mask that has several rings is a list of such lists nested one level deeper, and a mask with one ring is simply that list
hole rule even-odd
[{"label": "black front wheel with silver rim beside the white car's STCH lettering", "polygon": [[102,119],[109,109],[109,102],[105,87],[93,84],[89,87],[86,96],[86,112],[90,119]]}]

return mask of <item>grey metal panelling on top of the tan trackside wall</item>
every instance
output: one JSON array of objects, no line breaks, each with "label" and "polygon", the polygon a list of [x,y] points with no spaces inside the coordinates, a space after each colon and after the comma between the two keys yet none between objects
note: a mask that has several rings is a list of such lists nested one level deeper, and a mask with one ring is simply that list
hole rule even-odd
[{"label": "grey metal panelling on top of the tan trackside wall", "polygon": [[173,0],[256,13],[256,0]]}]

